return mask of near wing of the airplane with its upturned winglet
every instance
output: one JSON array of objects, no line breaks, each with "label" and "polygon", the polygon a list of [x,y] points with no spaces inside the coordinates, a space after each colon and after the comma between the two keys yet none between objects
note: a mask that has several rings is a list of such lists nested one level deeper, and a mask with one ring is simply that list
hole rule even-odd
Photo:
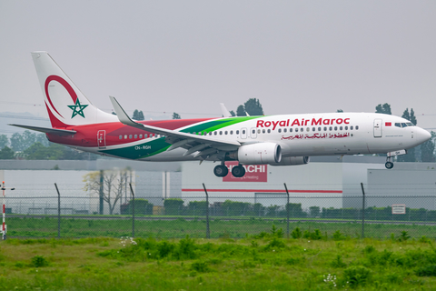
[{"label": "near wing of the airplane with its upturned winglet", "polygon": [[134,122],[125,112],[123,107],[116,101],[113,96],[109,96],[112,104],[114,105],[114,110],[116,116],[121,123],[124,125],[133,126],[142,130],[146,130],[148,132],[166,136],[166,142],[172,144],[168,148],[168,150],[173,150],[177,147],[183,147],[187,149],[186,153],[183,156],[187,156],[193,154],[194,152],[199,152],[195,156],[210,156],[216,154],[218,151],[232,151],[236,150],[241,144],[237,141],[227,141],[221,140],[218,138],[214,138],[209,135],[193,135],[182,133],[179,131],[165,129],[153,125],[143,125],[137,122]]}]

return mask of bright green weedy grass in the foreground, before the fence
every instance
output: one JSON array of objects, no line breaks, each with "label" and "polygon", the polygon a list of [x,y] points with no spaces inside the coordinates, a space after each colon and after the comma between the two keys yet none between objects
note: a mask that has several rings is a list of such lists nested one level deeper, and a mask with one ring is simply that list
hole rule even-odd
[{"label": "bright green weedy grass in the foreground, before the fence", "polygon": [[292,235],[7,239],[0,290],[436,290],[432,239]]}]

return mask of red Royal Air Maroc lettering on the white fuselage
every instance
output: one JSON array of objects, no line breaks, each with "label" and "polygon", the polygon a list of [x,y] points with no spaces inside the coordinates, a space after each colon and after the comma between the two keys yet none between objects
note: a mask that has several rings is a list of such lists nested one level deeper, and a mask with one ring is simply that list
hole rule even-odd
[{"label": "red Royal Air Maroc lettering on the white fuselage", "polygon": [[286,120],[277,120],[277,121],[265,121],[265,120],[257,120],[256,127],[271,127],[272,130],[277,127],[277,125],[285,127],[285,126],[306,126],[306,125],[349,125],[350,118],[312,118],[312,119],[294,119],[291,123],[290,119]]}]

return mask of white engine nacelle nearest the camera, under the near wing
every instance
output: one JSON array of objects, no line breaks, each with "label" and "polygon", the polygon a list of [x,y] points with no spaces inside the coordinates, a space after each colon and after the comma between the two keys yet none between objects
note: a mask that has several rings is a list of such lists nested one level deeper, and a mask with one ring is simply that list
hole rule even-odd
[{"label": "white engine nacelle nearest the camera, under the near wing", "polygon": [[263,165],[280,163],[282,147],[274,143],[258,143],[241,146],[238,149],[238,161],[243,165]]}]

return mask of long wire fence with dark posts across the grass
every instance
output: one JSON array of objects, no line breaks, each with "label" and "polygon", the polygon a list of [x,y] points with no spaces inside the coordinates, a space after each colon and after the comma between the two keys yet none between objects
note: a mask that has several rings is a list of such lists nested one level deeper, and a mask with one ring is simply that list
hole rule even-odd
[{"label": "long wire fence with dark posts across the grass", "polygon": [[[284,188],[284,187],[283,187]],[[57,186],[56,186],[57,190]],[[243,238],[281,229],[283,237],[322,236],[436,238],[436,195],[320,196],[214,192],[178,198],[148,196],[5,196],[7,237],[184,236]],[[287,189],[286,189],[287,190]],[[66,192],[66,191],[65,191]],[[372,192],[374,189],[372,189]],[[379,192],[382,192],[381,190]],[[51,192],[53,194],[53,192]],[[298,233],[298,231],[297,231]],[[393,235],[392,235],[393,234]],[[404,236],[404,235],[403,235]]]}]

